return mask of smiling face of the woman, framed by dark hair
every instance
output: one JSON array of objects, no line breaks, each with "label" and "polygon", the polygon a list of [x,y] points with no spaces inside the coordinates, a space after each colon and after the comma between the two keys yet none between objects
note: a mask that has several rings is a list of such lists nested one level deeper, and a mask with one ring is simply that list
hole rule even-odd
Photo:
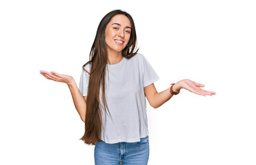
[{"label": "smiling face of the woman, framed by dark hair", "polygon": [[121,53],[130,39],[130,20],[123,14],[112,17],[105,30],[105,42],[108,53]]}]

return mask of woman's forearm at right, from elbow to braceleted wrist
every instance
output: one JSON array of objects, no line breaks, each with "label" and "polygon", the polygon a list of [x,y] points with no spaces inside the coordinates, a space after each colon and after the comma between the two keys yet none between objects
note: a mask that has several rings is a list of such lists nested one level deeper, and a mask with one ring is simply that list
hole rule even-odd
[{"label": "woman's forearm at right, from elbow to braceleted wrist", "polygon": [[[179,90],[181,89],[179,85],[176,83],[173,85],[173,90]],[[170,98],[173,97],[173,94],[170,94],[170,87],[164,91],[161,91],[157,94],[155,94],[154,98],[154,108],[157,109],[158,107],[161,107],[162,104],[170,100]]]}]

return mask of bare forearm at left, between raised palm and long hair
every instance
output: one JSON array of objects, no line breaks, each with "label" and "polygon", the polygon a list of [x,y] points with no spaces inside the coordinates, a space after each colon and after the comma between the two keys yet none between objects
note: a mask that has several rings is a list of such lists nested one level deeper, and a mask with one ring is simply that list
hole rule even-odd
[{"label": "bare forearm at left, between raised palm and long hair", "polygon": [[81,95],[81,92],[79,91],[77,87],[77,83],[75,83],[75,80],[72,80],[72,83],[68,84],[68,88],[70,89],[72,99],[75,104],[75,108],[77,109],[77,112],[79,113],[81,120],[85,122],[86,121],[86,101]]}]

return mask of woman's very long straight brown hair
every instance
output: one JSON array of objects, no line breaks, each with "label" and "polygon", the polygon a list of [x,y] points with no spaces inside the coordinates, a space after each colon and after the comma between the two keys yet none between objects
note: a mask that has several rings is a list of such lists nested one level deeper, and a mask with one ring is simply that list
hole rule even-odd
[{"label": "woman's very long straight brown hair", "polygon": [[[135,23],[133,22],[132,17],[127,12],[122,10],[112,10],[106,16],[101,19],[99,23],[97,33],[95,36],[95,41],[92,44],[92,48],[90,50],[90,58],[89,61],[83,65],[83,70],[90,74],[89,84],[88,84],[88,94],[86,100],[86,122],[85,122],[85,133],[83,137],[79,140],[83,140],[86,144],[95,145],[96,142],[101,142],[101,124],[102,124],[102,116],[101,116],[101,107],[100,99],[99,99],[99,91],[101,89],[101,98],[104,102],[104,110],[108,109],[108,105],[106,104],[105,98],[105,75],[106,75],[106,63],[108,60],[106,43],[105,43],[105,30],[106,26],[117,14],[124,14],[131,23],[131,33],[130,40],[128,44],[122,50],[122,56],[124,58],[132,58],[135,56],[139,49],[135,50],[137,47],[137,36],[135,31]],[[86,65],[90,63],[90,73],[84,69]],[[100,107],[101,106],[101,107]],[[108,113],[109,109],[108,109]]]}]

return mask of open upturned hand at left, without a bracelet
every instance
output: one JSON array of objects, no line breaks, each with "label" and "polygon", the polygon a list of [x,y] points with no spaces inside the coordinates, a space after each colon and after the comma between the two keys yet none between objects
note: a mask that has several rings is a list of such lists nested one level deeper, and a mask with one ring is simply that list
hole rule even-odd
[{"label": "open upturned hand at left, without a bracelet", "polygon": [[40,74],[45,76],[48,80],[66,83],[67,85],[70,85],[74,81],[74,78],[72,76],[68,76],[66,74],[57,74],[56,72],[46,72],[43,70],[40,70]]}]

